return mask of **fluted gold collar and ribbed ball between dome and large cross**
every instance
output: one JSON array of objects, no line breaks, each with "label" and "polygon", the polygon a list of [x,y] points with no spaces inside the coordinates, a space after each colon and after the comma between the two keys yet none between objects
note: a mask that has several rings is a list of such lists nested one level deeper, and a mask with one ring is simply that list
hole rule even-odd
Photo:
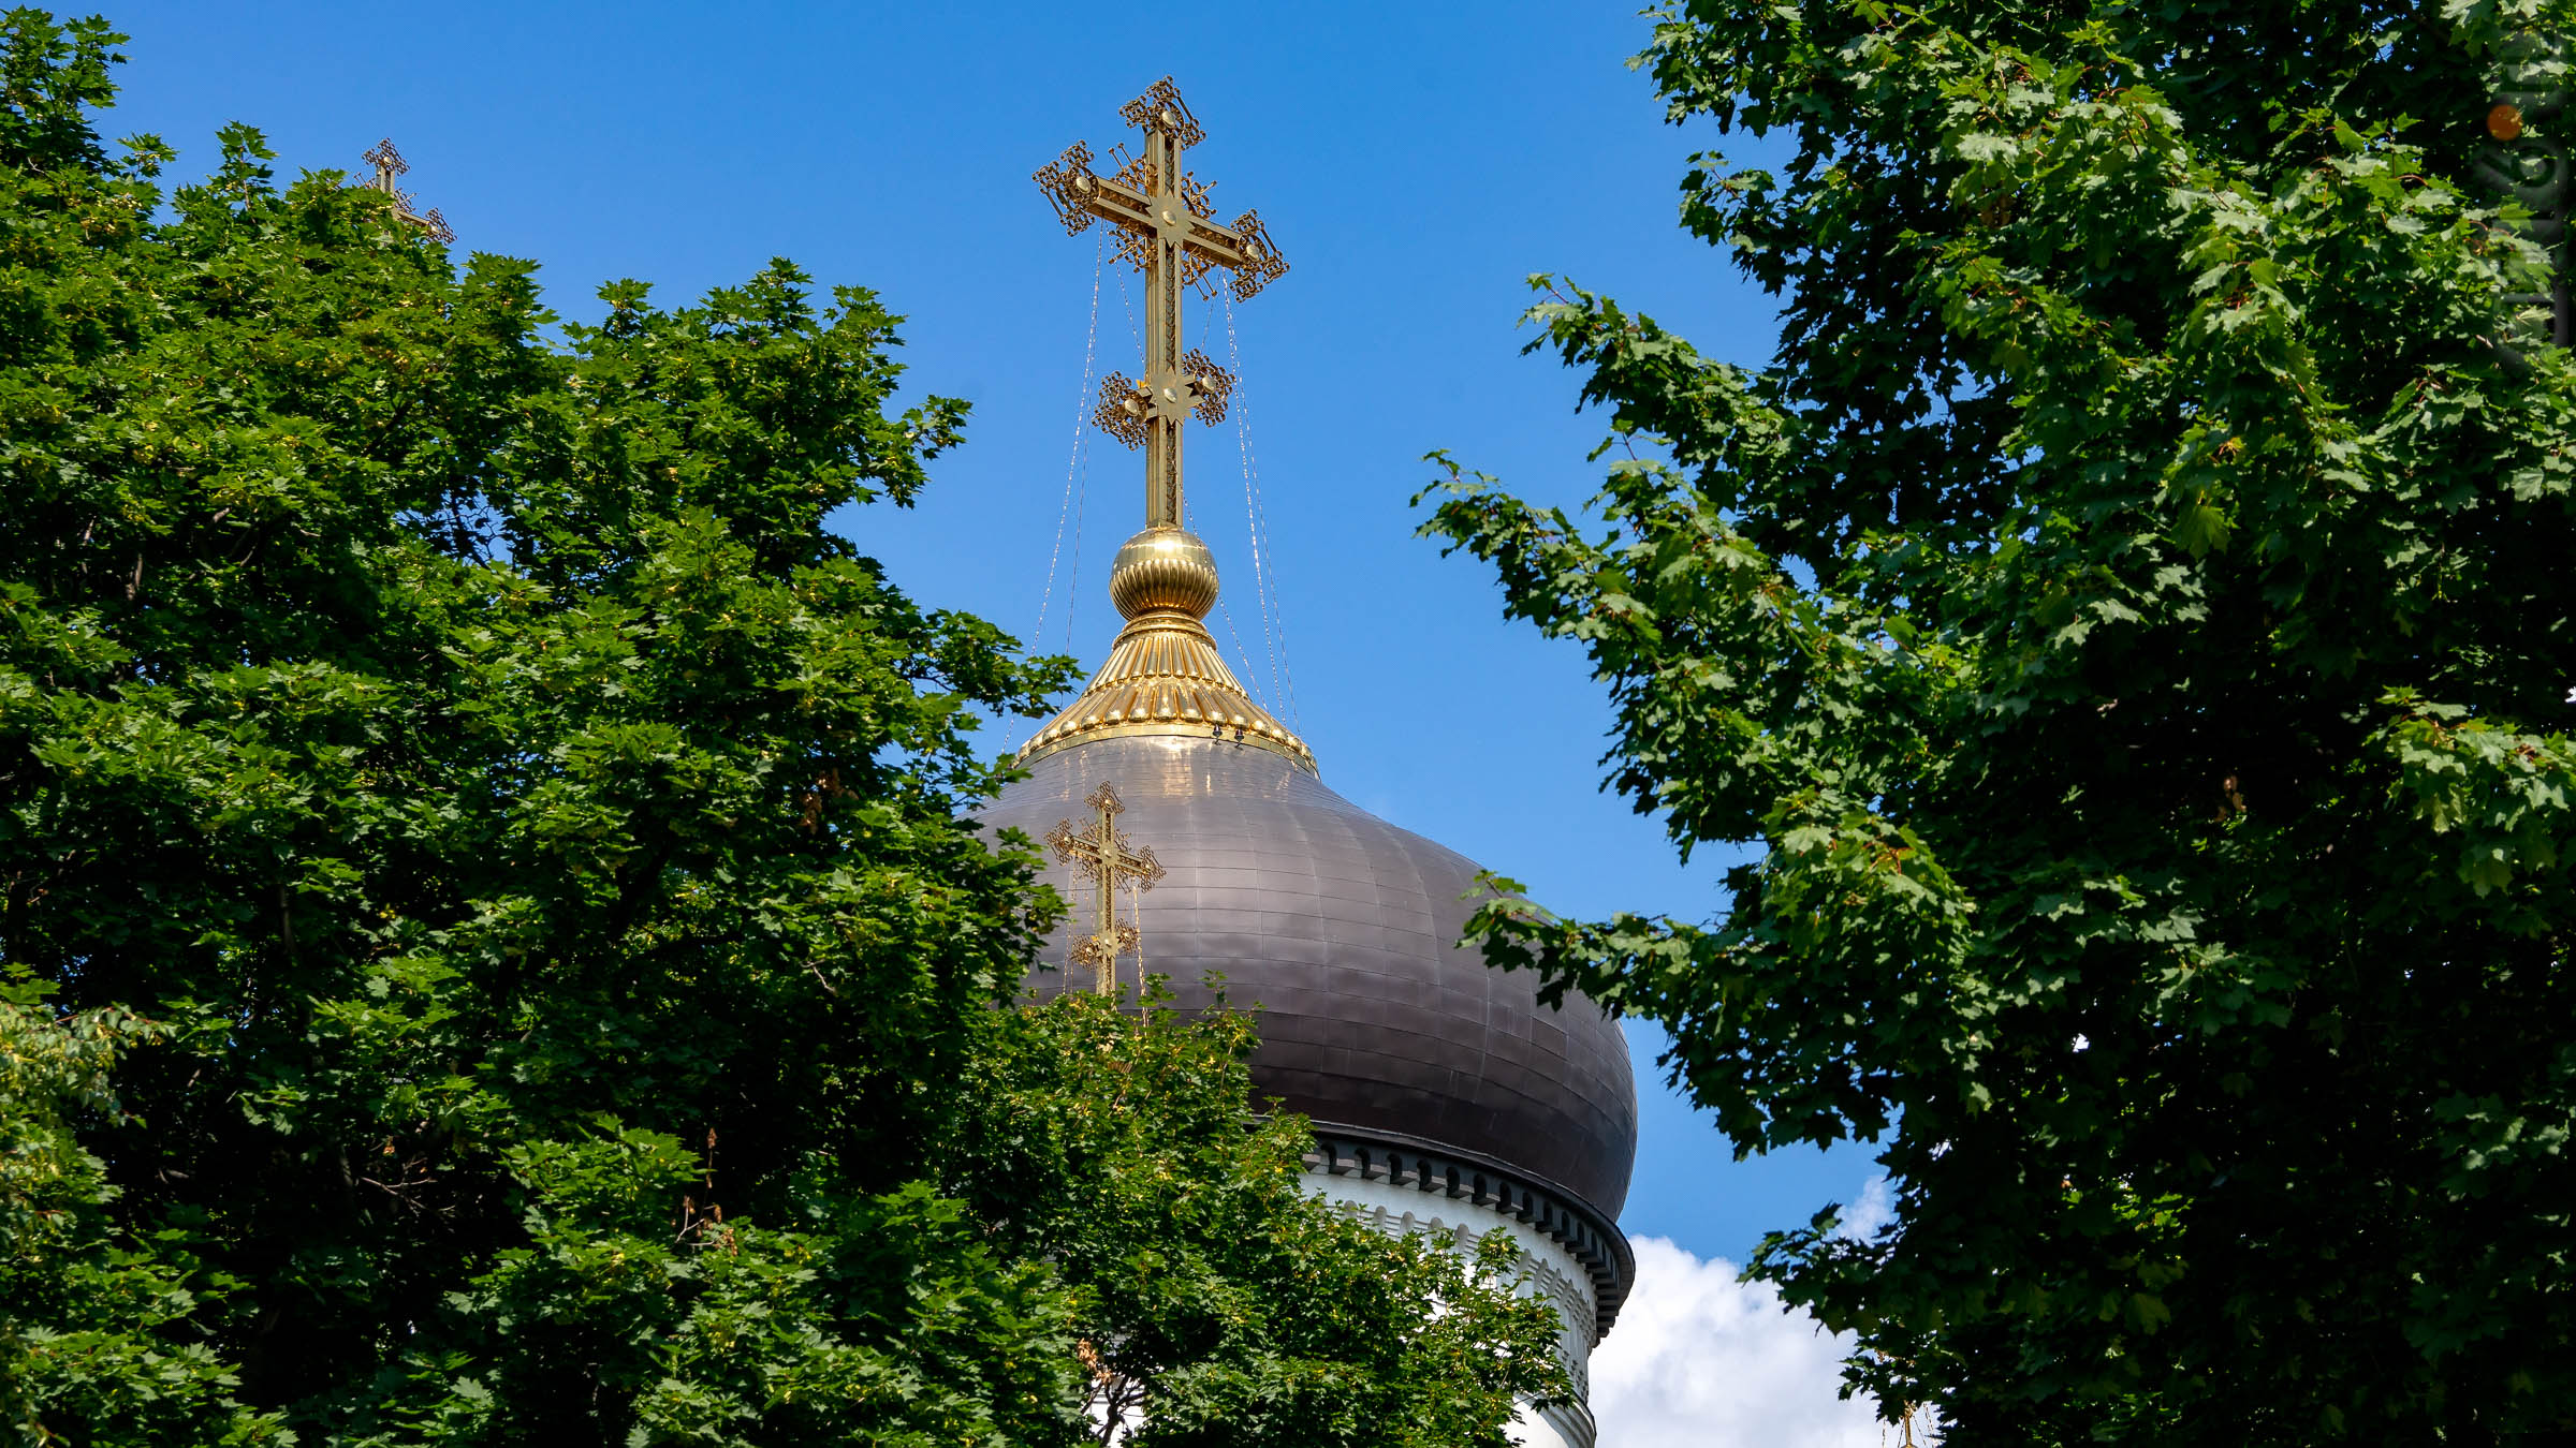
[{"label": "fluted gold collar and ribbed ball between dome and large cross", "polygon": [[1195,533],[1146,528],[1110,564],[1110,603],[1128,621],[1082,698],[1020,745],[1020,763],[1090,739],[1180,734],[1231,739],[1296,760],[1314,752],[1252,703],[1200,618],[1216,605],[1216,559]]}]

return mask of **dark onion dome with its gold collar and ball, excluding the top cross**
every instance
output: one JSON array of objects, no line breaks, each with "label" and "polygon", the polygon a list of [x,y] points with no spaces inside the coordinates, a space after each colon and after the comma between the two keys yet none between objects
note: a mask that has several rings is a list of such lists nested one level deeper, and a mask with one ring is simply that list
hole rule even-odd
[{"label": "dark onion dome with its gold collar and ball, excluding the top cross", "polygon": [[[1108,665],[1020,750],[1028,778],[981,822],[1064,837],[1108,786],[1108,845],[1133,840],[1159,871],[1136,881],[1149,889],[1113,886],[1133,933],[1110,951],[1141,951],[1121,979],[1162,974],[1193,1007],[1221,976],[1231,1005],[1260,1007],[1255,1095],[1314,1121],[1314,1170],[1530,1224],[1582,1262],[1605,1329],[1631,1278],[1615,1224],[1636,1159],[1618,1025],[1579,995],[1540,1005],[1535,976],[1458,946],[1476,866],[1337,796],[1244,696],[1200,624],[1216,564],[1195,536],[1131,538],[1110,598],[1128,624]],[[1100,881],[1059,886],[1079,904]],[[1087,989],[1087,946],[1069,922],[1033,987]]]}]

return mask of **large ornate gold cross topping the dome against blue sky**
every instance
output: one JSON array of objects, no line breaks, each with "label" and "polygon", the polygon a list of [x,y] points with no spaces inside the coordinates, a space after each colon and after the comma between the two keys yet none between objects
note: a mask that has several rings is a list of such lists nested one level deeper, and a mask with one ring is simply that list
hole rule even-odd
[{"label": "large ornate gold cross topping the dome against blue sky", "polygon": [[1244,301],[1278,281],[1288,263],[1270,245],[1255,211],[1218,227],[1208,188],[1180,167],[1180,152],[1208,139],[1180,103],[1172,77],[1154,82],[1121,111],[1144,129],[1144,155],[1110,152],[1113,173],[1092,173],[1092,147],[1074,142],[1036,180],[1056,206],[1066,232],[1092,222],[1118,227],[1118,255],[1144,271],[1144,379],[1110,374],[1100,381],[1095,423],[1121,443],[1144,448],[1144,523],[1180,528],[1180,425],[1193,412],[1203,423],[1226,420],[1234,379],[1200,356],[1180,350],[1180,289],[1216,296],[1216,268],[1234,273],[1234,299]]}]

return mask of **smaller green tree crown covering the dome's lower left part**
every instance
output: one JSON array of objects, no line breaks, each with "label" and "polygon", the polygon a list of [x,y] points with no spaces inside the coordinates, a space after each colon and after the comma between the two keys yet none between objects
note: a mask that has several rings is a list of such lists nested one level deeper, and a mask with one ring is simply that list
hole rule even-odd
[{"label": "smaller green tree crown covering the dome's lower left part", "polygon": [[1468,1257],[1355,1229],[1306,1198],[1303,1118],[1244,1131],[1249,1018],[1066,995],[1010,1033],[958,1190],[1084,1293],[1095,1412],[1146,1404],[1126,1443],[1502,1448],[1497,1407],[1566,1391],[1507,1234]]}]

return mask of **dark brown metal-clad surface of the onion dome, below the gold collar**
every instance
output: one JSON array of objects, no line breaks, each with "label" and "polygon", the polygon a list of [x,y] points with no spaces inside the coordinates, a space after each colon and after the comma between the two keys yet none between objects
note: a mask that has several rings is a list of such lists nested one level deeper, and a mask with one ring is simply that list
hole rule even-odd
[{"label": "dark brown metal-clad surface of the onion dome, below the gold collar", "polygon": [[[1118,819],[1170,871],[1141,897],[1144,969],[1182,1005],[1262,1007],[1252,1082],[1319,1129],[1432,1147],[1533,1177],[1615,1224],[1636,1159],[1636,1082],[1615,1023],[1458,935],[1476,866],[1352,806],[1275,750],[1149,734],[1036,757],[981,819],[1043,840],[1115,786]],[[1090,884],[1051,866],[1087,920]],[[1121,902],[1126,917],[1126,902]],[[1038,989],[1084,987],[1061,933]],[[1133,961],[1126,964],[1133,971]],[[1133,976],[1128,976],[1133,979]]]}]

